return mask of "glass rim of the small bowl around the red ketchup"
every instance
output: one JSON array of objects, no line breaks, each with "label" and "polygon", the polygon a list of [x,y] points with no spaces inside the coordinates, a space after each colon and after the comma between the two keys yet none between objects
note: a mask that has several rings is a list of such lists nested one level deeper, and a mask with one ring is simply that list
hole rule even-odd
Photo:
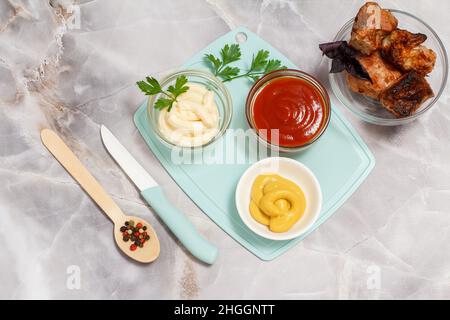
[{"label": "glass rim of the small bowl around the red ketchup", "polygon": [[[289,74],[286,74],[286,73],[289,73]],[[279,75],[275,76],[273,78],[270,78],[271,76],[274,76],[277,74],[279,74]],[[283,77],[288,77],[288,76],[300,78],[300,79],[310,83],[311,85],[313,85],[315,87],[315,89],[319,92],[320,96],[322,97],[322,99],[325,103],[326,111],[327,111],[325,113],[325,116],[326,116],[325,123],[322,126],[322,129],[320,130],[319,134],[317,136],[315,136],[314,139],[312,139],[311,141],[308,141],[305,144],[302,144],[299,146],[294,146],[294,147],[272,144],[270,141],[262,138],[259,135],[256,127],[252,124],[252,121],[250,119],[251,118],[250,117],[250,108],[254,104],[254,100],[255,100],[254,97],[256,97],[255,95],[260,92],[260,90],[264,87],[264,85],[267,82],[277,79],[277,78],[283,78]],[[288,152],[288,153],[289,152],[298,152],[298,151],[302,151],[302,150],[306,149],[307,147],[311,146],[314,142],[318,141],[322,137],[322,135],[326,131],[326,129],[328,128],[328,125],[329,125],[330,119],[331,119],[331,100],[330,100],[330,96],[328,94],[327,89],[316,77],[312,76],[311,74],[309,74],[307,72],[304,72],[304,71],[301,71],[298,69],[280,69],[280,70],[275,70],[275,71],[265,74],[260,79],[258,79],[253,84],[253,86],[250,88],[250,90],[247,94],[247,99],[245,101],[245,116],[247,118],[247,123],[248,123],[249,127],[256,134],[256,136],[260,142],[269,146],[270,148],[279,150],[281,152]]]}]

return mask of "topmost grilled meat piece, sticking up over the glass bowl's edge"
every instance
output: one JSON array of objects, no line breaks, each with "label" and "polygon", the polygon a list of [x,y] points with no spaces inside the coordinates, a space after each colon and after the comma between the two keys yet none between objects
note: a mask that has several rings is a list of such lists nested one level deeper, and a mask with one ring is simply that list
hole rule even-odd
[{"label": "topmost grilled meat piece, sticking up over the glass bowl's edge", "polygon": [[381,49],[383,38],[397,28],[398,21],[389,10],[375,2],[359,9],[353,24],[350,45],[365,55]]}]

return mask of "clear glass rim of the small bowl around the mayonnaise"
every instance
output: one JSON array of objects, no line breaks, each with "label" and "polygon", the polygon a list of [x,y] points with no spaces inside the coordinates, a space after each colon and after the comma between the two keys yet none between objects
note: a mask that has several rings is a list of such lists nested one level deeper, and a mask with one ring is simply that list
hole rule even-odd
[{"label": "clear glass rim of the small bowl around the mayonnaise", "polygon": [[[219,127],[219,131],[217,132],[217,134],[214,136],[213,139],[211,139],[207,143],[199,145],[199,146],[185,147],[185,146],[179,146],[179,145],[176,145],[176,144],[170,142],[169,140],[164,138],[162,136],[162,134],[159,132],[158,128],[155,128],[155,126],[151,123],[151,121],[153,119],[153,112],[154,112],[153,104],[154,104],[154,102],[156,100],[156,97],[158,95],[150,96],[148,98],[148,101],[147,101],[147,115],[149,117],[149,119],[148,119],[149,125],[150,125],[151,130],[158,137],[158,139],[163,144],[165,144],[167,147],[169,147],[169,148],[181,148],[181,149],[184,149],[184,150],[202,149],[202,148],[205,148],[205,147],[215,143],[217,140],[219,140],[225,134],[225,131],[229,128],[230,123],[231,123],[231,119],[233,117],[233,100],[231,98],[230,91],[224,85],[224,83],[219,78],[214,76],[211,72],[206,71],[206,70],[202,70],[202,69],[182,69],[182,70],[178,70],[178,71],[175,71],[175,72],[171,72],[171,73],[167,74],[166,76],[164,76],[160,80],[161,87],[164,88],[170,82],[172,82],[178,76],[181,76],[181,75],[187,75],[187,76],[188,75],[193,75],[193,76],[198,76],[200,78],[207,79],[207,80],[213,82],[219,88],[221,93],[224,95],[224,100],[225,100],[224,101],[224,107],[223,107],[223,109],[224,109],[224,122],[223,122],[222,126]],[[188,80],[188,82],[189,82],[189,80]]]}]

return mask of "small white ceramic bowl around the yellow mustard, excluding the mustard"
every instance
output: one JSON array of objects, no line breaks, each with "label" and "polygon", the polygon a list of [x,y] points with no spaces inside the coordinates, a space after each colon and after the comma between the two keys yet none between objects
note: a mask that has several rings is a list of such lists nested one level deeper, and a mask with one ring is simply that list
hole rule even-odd
[{"label": "small white ceramic bowl around the yellow mustard, excluding the mustard", "polygon": [[[303,216],[286,232],[272,232],[250,215],[250,194],[253,182],[260,174],[274,173],[295,182],[302,188],[306,198]],[[302,163],[281,157],[263,159],[254,163],[244,172],[236,188],[236,207],[245,225],[261,237],[271,240],[289,240],[297,238],[311,228],[322,208],[322,190],[314,173]]]}]

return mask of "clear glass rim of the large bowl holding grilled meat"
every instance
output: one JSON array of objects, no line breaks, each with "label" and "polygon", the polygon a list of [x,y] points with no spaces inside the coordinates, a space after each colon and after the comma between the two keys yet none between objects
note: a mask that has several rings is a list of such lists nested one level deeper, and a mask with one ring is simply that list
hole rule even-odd
[{"label": "clear glass rim of the large bowl holding grilled meat", "polygon": [[[442,93],[445,90],[445,87],[447,85],[447,80],[448,80],[448,55],[447,55],[447,50],[445,49],[444,43],[442,42],[441,38],[437,35],[437,33],[434,31],[434,29],[428,25],[425,21],[423,21],[422,19],[416,17],[415,15],[406,12],[406,11],[402,11],[402,10],[397,10],[397,9],[386,9],[389,10],[392,13],[399,13],[399,14],[403,14],[406,15],[410,18],[412,18],[413,20],[416,20],[417,22],[419,22],[420,24],[422,24],[423,26],[425,26],[425,28],[427,28],[431,34],[433,35],[433,37],[436,39],[437,43],[438,43],[438,47],[442,52],[443,55],[443,61],[442,61],[442,65],[443,65],[443,69],[444,69],[444,78],[443,81],[441,83],[441,87],[439,88],[438,93],[433,97],[433,100],[429,103],[429,105],[427,105],[425,108],[423,108],[422,110],[407,116],[407,117],[403,117],[403,118],[380,118],[371,114],[367,114],[363,111],[360,111],[356,108],[351,107],[351,103],[348,102],[347,98],[344,97],[343,94],[341,94],[341,89],[339,88],[338,84],[337,84],[337,77],[339,76],[339,74],[332,74],[329,73],[329,79],[330,79],[330,84],[331,84],[331,89],[334,93],[334,95],[339,99],[339,101],[348,109],[350,110],[353,114],[357,115],[360,119],[367,121],[369,123],[372,124],[378,124],[378,125],[386,125],[386,126],[395,126],[395,125],[401,125],[407,122],[410,122],[412,120],[415,120],[417,118],[419,118],[420,116],[422,116],[423,114],[425,114],[425,112],[427,112],[428,110],[431,109],[431,107],[434,106],[434,104],[436,102],[438,102],[438,100],[440,99]],[[349,21],[347,21],[342,27],[341,29],[338,31],[338,33],[336,34],[336,36],[334,37],[333,41],[340,41],[343,40],[342,37],[344,35],[344,33],[351,27],[351,25],[353,24],[353,22],[355,21],[355,18],[351,18]],[[331,61],[329,62],[328,66],[331,66]],[[350,90],[350,89],[348,89]]]}]

